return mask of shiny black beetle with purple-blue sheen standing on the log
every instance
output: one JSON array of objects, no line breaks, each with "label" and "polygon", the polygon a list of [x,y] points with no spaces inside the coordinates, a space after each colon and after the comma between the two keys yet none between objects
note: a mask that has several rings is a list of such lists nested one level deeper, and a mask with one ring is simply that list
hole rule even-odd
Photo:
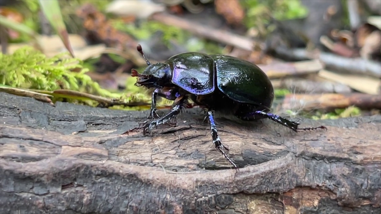
[{"label": "shiny black beetle with purple-blue sheen standing on the log", "polygon": [[[152,104],[149,120],[142,127],[126,133],[141,128],[144,135],[150,133],[154,127],[178,115],[187,99],[191,99],[205,107],[216,149],[238,171],[236,164],[224,152],[224,149],[229,150],[217,134],[213,112],[232,114],[247,121],[269,118],[293,131],[327,129],[325,126],[298,128],[299,123],[268,113],[274,100],[274,89],[267,75],[251,62],[226,55],[188,52],[172,56],[164,63],[151,64],[140,45],[137,49],[148,67],[142,74],[132,69],[132,76],[138,77],[136,86],[150,89]],[[170,112],[162,117],[156,113],[157,96],[175,101]]]}]

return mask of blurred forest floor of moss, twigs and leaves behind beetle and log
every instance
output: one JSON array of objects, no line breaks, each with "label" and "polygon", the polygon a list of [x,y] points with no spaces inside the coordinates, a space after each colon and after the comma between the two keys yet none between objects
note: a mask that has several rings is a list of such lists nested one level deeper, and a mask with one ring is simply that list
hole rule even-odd
[{"label": "blurred forest floor of moss, twigs and leaves behind beetle and log", "polygon": [[0,0],[0,14],[0,91],[51,105],[149,109],[131,77],[141,44],[151,62],[198,51],[257,64],[281,115],[380,113],[378,0]]}]

